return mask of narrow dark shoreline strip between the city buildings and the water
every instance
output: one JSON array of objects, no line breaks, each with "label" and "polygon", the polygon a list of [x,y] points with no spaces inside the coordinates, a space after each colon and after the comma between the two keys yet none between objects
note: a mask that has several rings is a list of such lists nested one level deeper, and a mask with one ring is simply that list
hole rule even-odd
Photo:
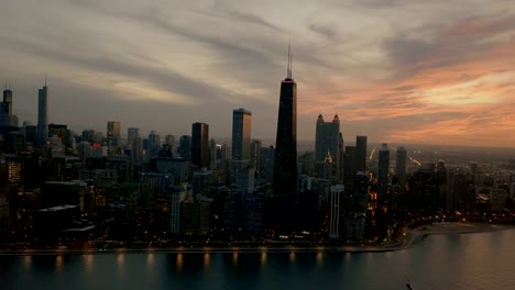
[{"label": "narrow dark shoreline strip between the city buildings and the water", "polygon": [[376,246],[259,246],[259,247],[173,247],[173,248],[87,248],[0,250],[0,256],[122,255],[122,254],[233,254],[233,253],[384,253],[412,248],[430,235],[462,235],[514,230],[515,226],[484,223],[439,223],[407,231],[398,243]]}]

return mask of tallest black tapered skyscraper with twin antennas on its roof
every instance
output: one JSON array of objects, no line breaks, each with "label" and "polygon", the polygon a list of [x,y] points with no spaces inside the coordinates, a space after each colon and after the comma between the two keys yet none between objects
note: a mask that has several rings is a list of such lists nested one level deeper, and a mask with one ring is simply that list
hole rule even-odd
[{"label": "tallest black tapered skyscraper with twin antennas on its roof", "polygon": [[292,78],[289,47],[286,78],[281,81],[272,187],[280,200],[278,223],[291,228],[297,194],[297,83]]}]

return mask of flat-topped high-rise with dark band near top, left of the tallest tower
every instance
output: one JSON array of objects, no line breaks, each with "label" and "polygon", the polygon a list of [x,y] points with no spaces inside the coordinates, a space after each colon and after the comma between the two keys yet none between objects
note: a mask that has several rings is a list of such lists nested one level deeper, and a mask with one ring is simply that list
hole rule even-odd
[{"label": "flat-topped high-rise with dark band near top, left of the tallest tower", "polygon": [[252,113],[245,109],[232,111],[232,159],[250,160]]}]

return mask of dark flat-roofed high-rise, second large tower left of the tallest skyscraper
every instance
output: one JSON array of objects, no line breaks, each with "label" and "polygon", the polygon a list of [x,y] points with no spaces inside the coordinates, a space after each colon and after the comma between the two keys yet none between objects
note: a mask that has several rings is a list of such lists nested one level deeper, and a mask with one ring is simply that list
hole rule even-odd
[{"label": "dark flat-roofed high-rise, second large tower left of the tallest skyscraper", "polygon": [[197,167],[209,167],[209,125],[191,125],[191,164]]}]

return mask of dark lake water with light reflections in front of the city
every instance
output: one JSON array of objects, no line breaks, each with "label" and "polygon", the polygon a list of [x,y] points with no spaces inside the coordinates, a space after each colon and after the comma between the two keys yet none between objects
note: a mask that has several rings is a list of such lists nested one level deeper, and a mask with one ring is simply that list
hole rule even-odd
[{"label": "dark lake water with light reflections in front of the city", "polygon": [[513,289],[515,230],[386,253],[1,256],[1,289]]}]

